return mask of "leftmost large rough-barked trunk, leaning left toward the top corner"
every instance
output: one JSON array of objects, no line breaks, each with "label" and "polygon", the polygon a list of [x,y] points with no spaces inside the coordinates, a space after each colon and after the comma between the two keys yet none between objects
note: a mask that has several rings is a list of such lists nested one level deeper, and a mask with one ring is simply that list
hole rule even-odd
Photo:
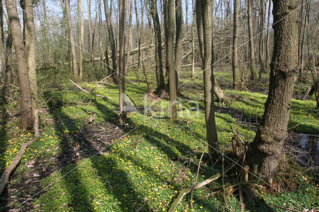
[{"label": "leftmost large rough-barked trunk, leaning left toward the top corner", "polygon": [[5,1],[8,19],[10,22],[10,31],[12,33],[15,57],[17,62],[18,79],[21,93],[20,120],[22,130],[32,129],[32,93],[30,88],[27,63],[24,52],[24,43],[21,34],[21,25],[16,8],[16,1]]}]

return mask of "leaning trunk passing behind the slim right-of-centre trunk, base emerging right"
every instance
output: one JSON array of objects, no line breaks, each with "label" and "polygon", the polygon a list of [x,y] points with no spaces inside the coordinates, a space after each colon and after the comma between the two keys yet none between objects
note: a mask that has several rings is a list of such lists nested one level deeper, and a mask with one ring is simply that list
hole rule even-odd
[{"label": "leaning trunk passing behind the slim right-of-centre trunk, base emerging right", "polygon": [[[199,50],[200,50],[200,56],[202,58],[202,64],[204,67],[204,35],[203,35],[203,19],[202,19],[202,13],[201,13],[201,4],[199,0],[196,0],[196,26],[197,26],[197,36],[198,36],[198,44],[199,44]],[[205,70],[205,68],[204,68]],[[217,101],[221,101],[224,99],[224,93],[223,91],[219,88],[218,83],[216,79],[214,78],[214,83],[212,84],[214,94],[217,98]]]}]

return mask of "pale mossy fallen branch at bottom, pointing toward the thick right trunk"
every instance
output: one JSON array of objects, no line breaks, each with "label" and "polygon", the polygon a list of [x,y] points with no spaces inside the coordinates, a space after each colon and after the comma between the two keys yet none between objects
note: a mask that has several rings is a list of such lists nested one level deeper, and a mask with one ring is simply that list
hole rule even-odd
[{"label": "pale mossy fallen branch at bottom, pointing toward the thick right trunk", "polygon": [[[234,164],[232,164],[231,166],[229,166],[224,173],[228,172],[229,170],[231,170],[234,167]],[[207,184],[211,183],[214,180],[217,180],[220,176],[222,176],[223,172],[220,171],[217,174],[211,176],[210,178],[208,178],[207,180],[197,184],[194,187],[188,187],[186,189],[181,190],[181,192],[179,193],[179,195],[177,196],[177,198],[174,200],[174,202],[171,204],[168,212],[174,212],[177,205],[180,203],[180,201],[183,199],[183,197],[188,194],[189,192],[191,192],[192,190],[196,190],[199,189],[203,186],[206,186]]]}]

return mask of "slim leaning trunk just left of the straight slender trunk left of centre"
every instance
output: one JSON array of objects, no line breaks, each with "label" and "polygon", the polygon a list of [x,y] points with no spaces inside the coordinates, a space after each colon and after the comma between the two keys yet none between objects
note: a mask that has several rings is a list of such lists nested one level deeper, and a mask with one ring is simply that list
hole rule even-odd
[{"label": "slim leaning trunk just left of the straight slender trunk left of centre", "polygon": [[[109,32],[109,39],[110,39],[110,44],[111,44],[111,50],[112,50],[112,73],[117,73],[118,72],[118,61],[117,61],[117,51],[116,51],[116,45],[115,45],[115,40],[114,40],[114,34],[113,34],[113,27],[112,27],[112,23],[111,23],[111,17],[110,17],[110,13],[109,13],[109,3],[108,0],[104,0],[104,11],[105,11],[105,17],[106,17],[106,23],[108,25],[108,32]],[[113,74],[112,78],[113,78],[113,82],[116,84],[117,80],[116,80],[116,76],[118,74]]]}]

